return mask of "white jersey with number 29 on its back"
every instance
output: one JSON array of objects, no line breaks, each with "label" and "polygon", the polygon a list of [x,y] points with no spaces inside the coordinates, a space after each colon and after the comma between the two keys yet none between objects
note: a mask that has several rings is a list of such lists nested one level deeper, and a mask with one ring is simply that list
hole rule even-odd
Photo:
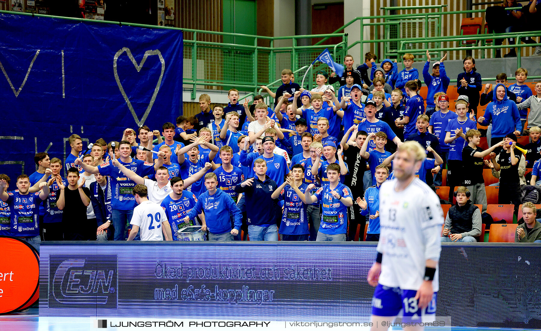
[{"label": "white jersey with number 29 on its back", "polygon": [[163,221],[167,221],[163,208],[156,202],[143,201],[134,208],[130,224],[139,227],[141,240],[163,240]]}]

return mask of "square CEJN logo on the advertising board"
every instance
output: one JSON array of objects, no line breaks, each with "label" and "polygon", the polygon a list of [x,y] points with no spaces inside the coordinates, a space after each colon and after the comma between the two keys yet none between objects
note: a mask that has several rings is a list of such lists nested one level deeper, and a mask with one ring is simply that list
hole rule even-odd
[{"label": "square CEJN logo on the advertising board", "polygon": [[50,255],[49,307],[116,308],[116,255]]}]

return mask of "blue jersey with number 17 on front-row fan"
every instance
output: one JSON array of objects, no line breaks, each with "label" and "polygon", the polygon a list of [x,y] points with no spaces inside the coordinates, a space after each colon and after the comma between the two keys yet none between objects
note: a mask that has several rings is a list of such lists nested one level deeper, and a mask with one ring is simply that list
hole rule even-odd
[{"label": "blue jersey with number 17 on front-row fan", "polygon": [[[306,191],[306,183],[301,183],[299,190]],[[306,204],[302,202],[299,195],[289,185],[286,185],[280,192],[278,198],[284,201],[280,234],[300,235],[309,234],[308,219],[306,218]]]}]

